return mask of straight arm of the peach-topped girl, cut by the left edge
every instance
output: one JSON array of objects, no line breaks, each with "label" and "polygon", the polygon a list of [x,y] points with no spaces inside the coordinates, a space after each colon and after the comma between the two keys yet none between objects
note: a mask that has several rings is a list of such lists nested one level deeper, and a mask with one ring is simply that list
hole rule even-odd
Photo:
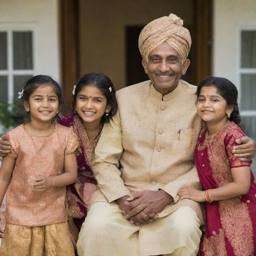
[{"label": "straight arm of the peach-topped girl, cut by the left edge", "polygon": [[[11,158],[10,156],[4,156],[2,159],[2,165],[0,168],[0,205],[4,199],[4,195],[6,193],[8,184],[12,177],[12,170],[15,164],[15,159]],[[3,212],[0,212],[0,238],[4,237],[4,230],[6,221],[5,215]]]}]

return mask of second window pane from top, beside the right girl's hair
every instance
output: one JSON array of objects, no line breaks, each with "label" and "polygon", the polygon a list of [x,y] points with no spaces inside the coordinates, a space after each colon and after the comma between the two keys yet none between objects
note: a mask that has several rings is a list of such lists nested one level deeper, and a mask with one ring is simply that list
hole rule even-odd
[{"label": "second window pane from top, beside the right girl's hair", "polygon": [[256,74],[241,75],[241,110],[256,110]]}]

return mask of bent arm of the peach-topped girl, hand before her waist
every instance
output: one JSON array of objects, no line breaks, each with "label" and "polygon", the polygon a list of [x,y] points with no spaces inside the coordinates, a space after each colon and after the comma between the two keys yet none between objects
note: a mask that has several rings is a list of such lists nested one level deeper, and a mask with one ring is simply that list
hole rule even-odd
[{"label": "bent arm of the peach-topped girl, hand before her waist", "polygon": [[76,181],[77,162],[76,153],[65,155],[64,173],[57,176],[38,176],[34,184],[35,191],[44,191],[50,187],[64,187]]}]

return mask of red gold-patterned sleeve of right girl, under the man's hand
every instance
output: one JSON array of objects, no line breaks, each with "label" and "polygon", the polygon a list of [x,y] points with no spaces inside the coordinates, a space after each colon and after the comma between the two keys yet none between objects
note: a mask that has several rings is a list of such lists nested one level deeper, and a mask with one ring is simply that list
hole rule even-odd
[{"label": "red gold-patterned sleeve of right girl, under the man's hand", "polygon": [[232,149],[234,146],[237,146],[236,139],[242,138],[245,136],[242,130],[232,129],[228,132],[225,137],[224,143],[226,145],[226,153],[228,156],[228,160],[230,162],[230,168],[241,167],[241,166],[250,166],[252,161],[250,162],[242,162],[232,153]]}]

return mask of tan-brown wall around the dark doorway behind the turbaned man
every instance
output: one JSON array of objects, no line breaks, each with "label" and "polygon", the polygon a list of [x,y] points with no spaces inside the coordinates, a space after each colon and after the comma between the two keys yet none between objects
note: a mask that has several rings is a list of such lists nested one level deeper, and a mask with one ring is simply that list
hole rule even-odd
[{"label": "tan-brown wall around the dark doorway behind the turbaned man", "polygon": [[115,88],[124,87],[125,27],[170,13],[192,26],[191,0],[80,0],[80,75],[101,72]]}]

